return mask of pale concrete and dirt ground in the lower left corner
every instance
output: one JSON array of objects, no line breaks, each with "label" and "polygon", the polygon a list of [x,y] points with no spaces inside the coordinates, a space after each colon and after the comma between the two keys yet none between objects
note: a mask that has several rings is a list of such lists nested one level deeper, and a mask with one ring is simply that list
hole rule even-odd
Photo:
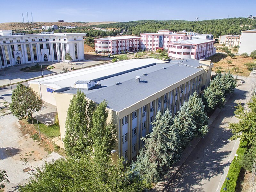
[{"label": "pale concrete and dirt ground in the lower left corner", "polygon": [[23,172],[23,169],[36,169],[45,161],[50,162],[61,156],[55,152],[48,154],[38,142],[22,135],[20,124],[12,114],[0,117],[0,121],[0,169],[5,169],[10,180],[4,189],[16,191],[18,184],[24,184],[31,177],[31,171]]}]

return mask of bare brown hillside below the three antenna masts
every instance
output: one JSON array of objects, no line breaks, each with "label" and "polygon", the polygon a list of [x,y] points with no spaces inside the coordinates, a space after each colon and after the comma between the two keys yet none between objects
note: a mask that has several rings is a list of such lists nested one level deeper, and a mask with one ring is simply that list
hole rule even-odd
[{"label": "bare brown hillside below the three antenna masts", "polygon": [[33,22],[33,23],[0,23],[0,30],[31,30],[41,28],[43,25],[71,25],[77,27],[91,26],[91,25],[100,25],[100,24],[110,24],[116,23],[115,21],[103,21],[103,22]]}]

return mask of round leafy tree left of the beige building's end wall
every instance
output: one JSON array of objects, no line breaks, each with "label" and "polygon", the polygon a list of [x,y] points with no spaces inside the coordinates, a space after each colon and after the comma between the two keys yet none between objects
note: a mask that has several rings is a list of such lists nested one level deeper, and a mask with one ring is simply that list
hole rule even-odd
[{"label": "round leafy tree left of the beige building's end wall", "polygon": [[18,119],[25,118],[27,115],[32,118],[32,113],[40,111],[42,104],[41,98],[30,87],[19,83],[12,92],[10,109]]}]

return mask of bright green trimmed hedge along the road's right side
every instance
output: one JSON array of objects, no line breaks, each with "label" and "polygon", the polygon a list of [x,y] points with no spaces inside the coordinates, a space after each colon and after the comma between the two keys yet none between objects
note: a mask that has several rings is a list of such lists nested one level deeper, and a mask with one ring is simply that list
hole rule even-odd
[{"label": "bright green trimmed hedge along the road's right side", "polygon": [[[242,157],[246,151],[246,149],[248,148],[248,141],[241,141],[239,144],[239,148],[236,151],[237,156],[237,161],[236,161],[236,156],[233,159],[233,161],[230,164],[229,170],[228,170],[228,175],[227,177],[230,179],[228,181],[228,185],[227,185],[227,189],[229,192],[235,192],[236,191],[236,183],[238,180],[238,176],[240,174],[241,171],[241,166],[239,165],[239,161],[238,158]],[[225,192],[225,190],[223,190],[224,187],[226,187],[226,183],[227,180],[225,180],[225,182],[223,183],[222,187],[221,187],[221,192]]]}]

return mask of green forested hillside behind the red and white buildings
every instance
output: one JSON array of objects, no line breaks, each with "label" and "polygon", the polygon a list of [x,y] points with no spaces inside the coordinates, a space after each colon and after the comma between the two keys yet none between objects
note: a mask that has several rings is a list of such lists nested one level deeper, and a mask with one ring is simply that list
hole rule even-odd
[{"label": "green forested hillside behind the red and white buildings", "polygon": [[159,29],[169,29],[172,31],[186,30],[200,34],[213,34],[215,38],[218,38],[219,35],[241,34],[243,30],[255,29],[256,20],[242,17],[197,22],[183,20],[140,20],[95,25],[93,27],[118,29],[124,31],[124,35],[140,35],[140,33],[157,32]]}]

